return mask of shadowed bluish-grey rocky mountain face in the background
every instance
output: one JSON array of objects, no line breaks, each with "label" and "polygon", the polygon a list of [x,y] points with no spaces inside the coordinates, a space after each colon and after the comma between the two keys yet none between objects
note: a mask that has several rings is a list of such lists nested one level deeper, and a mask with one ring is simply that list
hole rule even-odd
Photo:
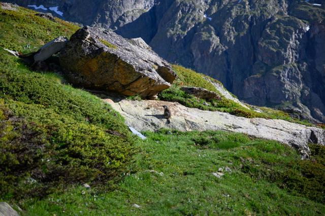
[{"label": "shadowed bluish-grey rocky mountain face in the background", "polygon": [[248,103],[298,107],[325,122],[322,0],[10,2],[58,6],[66,20],[141,37],[161,57],[220,80]]}]

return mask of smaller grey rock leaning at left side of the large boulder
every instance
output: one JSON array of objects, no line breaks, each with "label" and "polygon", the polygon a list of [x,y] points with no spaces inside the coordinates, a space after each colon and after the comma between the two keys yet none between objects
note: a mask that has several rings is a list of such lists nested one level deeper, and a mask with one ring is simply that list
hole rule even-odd
[{"label": "smaller grey rock leaning at left side of the large boulder", "polygon": [[68,39],[62,36],[53,39],[52,41],[42,46],[36,52],[36,54],[34,55],[34,60],[38,62],[38,61],[44,61],[48,59],[53,54],[60,52],[64,48],[64,46],[66,46],[67,43],[68,43]]}]

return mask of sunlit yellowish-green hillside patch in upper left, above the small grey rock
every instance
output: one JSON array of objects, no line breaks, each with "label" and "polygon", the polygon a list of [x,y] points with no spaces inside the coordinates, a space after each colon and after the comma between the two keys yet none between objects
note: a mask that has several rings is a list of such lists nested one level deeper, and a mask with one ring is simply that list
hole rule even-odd
[{"label": "sunlit yellowish-green hillside patch in upper left, above the small grey rock", "polygon": [[58,18],[52,22],[35,14],[23,8],[18,11],[0,8],[0,47],[22,53],[33,52],[60,35],[70,38],[79,28]]}]

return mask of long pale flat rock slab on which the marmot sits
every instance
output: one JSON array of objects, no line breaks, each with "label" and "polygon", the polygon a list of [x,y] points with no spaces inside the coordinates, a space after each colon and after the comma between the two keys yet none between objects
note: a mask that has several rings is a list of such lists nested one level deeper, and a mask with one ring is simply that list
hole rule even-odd
[{"label": "long pale flat rock slab on which the marmot sits", "polygon": [[[188,108],[179,103],[156,100],[121,100],[110,102],[113,108],[125,119],[128,126],[139,131],[155,131],[170,128],[180,131],[226,130],[245,133],[258,138],[276,140],[301,152],[303,158],[310,154],[308,143],[325,145],[325,130],[290,123],[284,120],[272,120],[237,117],[229,113],[202,111]],[[164,118],[163,105],[172,112],[171,123]]]}]

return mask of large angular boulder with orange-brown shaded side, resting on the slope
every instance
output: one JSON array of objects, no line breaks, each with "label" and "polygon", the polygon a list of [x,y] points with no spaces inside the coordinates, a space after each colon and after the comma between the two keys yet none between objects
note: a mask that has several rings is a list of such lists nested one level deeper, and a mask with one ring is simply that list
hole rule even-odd
[{"label": "large angular boulder with orange-brown shaded side, resting on the slope", "polygon": [[126,40],[103,28],[79,29],[59,58],[73,84],[124,95],[156,95],[176,78],[168,62],[144,41]]}]

